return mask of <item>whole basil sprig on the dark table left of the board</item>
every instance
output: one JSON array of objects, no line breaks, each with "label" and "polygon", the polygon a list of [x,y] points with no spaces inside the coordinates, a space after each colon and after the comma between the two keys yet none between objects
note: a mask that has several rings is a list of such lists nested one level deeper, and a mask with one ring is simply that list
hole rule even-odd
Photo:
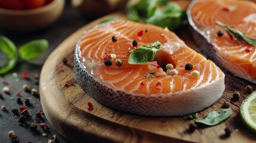
[{"label": "whole basil sprig on the dark table left of the board", "polygon": [[0,74],[13,69],[18,60],[31,60],[37,58],[48,48],[45,39],[34,40],[25,43],[17,49],[16,45],[7,37],[0,35],[0,50],[6,54],[6,62],[0,66]]}]

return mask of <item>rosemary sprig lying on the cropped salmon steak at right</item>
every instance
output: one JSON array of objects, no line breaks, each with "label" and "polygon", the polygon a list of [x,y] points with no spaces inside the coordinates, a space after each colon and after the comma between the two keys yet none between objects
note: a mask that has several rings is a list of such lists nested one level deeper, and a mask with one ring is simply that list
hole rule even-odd
[{"label": "rosemary sprig lying on the cropped salmon steak at right", "polygon": [[245,33],[233,29],[233,26],[226,25],[220,21],[216,21],[216,23],[227,32],[231,39],[233,39],[233,37],[236,38],[236,41],[238,41],[239,45],[242,41],[248,43],[249,45],[256,46],[256,39],[250,38],[246,36]]}]

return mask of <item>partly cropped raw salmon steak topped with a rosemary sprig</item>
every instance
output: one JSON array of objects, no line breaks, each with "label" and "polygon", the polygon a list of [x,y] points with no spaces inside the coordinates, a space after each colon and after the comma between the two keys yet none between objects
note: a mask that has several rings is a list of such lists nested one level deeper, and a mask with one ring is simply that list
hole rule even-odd
[{"label": "partly cropped raw salmon steak topped with a rosemary sprig", "polygon": [[[193,39],[210,58],[235,76],[256,83],[256,47],[239,42],[216,23],[256,38],[256,4],[236,0],[193,1],[187,10]],[[224,35],[218,35],[221,31]]]}]

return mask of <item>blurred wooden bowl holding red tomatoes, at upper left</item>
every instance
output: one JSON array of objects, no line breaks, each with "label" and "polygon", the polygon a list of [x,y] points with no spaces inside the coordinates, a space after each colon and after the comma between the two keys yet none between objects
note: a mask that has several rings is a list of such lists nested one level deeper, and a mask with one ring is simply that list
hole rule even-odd
[{"label": "blurred wooden bowl holding red tomatoes, at upper left", "polygon": [[14,31],[32,31],[54,23],[64,9],[63,0],[54,0],[32,10],[9,10],[0,8],[0,26]]}]

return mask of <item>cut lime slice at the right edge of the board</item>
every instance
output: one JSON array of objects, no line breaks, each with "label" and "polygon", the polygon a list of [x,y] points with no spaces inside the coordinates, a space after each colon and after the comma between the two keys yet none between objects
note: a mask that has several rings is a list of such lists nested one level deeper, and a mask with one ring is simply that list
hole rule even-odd
[{"label": "cut lime slice at the right edge of the board", "polygon": [[243,100],[240,115],[246,125],[256,132],[256,91]]}]

